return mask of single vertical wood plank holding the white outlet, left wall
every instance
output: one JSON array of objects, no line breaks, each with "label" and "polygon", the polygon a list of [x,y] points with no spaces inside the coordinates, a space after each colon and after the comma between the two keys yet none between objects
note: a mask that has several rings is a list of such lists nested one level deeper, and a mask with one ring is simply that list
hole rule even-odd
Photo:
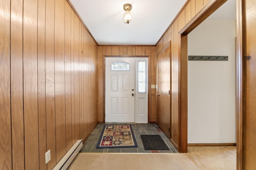
[{"label": "single vertical wood plank holding the white outlet, left wall", "polygon": [[51,150],[47,168],[56,165],[55,94],[54,94],[54,1],[46,0],[45,77],[46,77],[46,149]]}]

